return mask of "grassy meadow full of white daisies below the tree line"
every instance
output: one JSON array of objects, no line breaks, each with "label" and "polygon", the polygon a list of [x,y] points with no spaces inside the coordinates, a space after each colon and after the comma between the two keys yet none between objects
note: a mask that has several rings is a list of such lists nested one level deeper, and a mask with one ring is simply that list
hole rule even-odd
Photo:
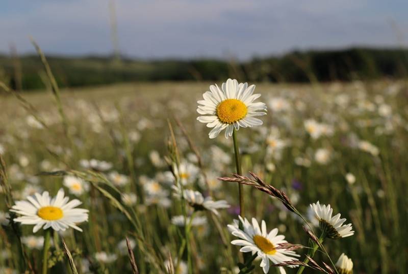
[{"label": "grassy meadow full of white daisies below the tree line", "polygon": [[406,273],[406,83],[251,84],[8,90],[0,273]]}]

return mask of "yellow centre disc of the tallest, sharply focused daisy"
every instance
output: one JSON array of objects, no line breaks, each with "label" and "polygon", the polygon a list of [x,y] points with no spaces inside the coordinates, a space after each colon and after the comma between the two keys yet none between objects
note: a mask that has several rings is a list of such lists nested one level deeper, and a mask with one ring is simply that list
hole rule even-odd
[{"label": "yellow centre disc of the tallest, sharply focused daisy", "polygon": [[225,124],[232,124],[245,117],[246,105],[237,99],[226,99],[218,104],[217,116]]}]

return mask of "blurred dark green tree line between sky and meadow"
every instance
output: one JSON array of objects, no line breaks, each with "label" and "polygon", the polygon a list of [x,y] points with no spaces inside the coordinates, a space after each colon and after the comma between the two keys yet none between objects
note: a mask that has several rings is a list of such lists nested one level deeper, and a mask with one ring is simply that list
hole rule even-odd
[{"label": "blurred dark green tree line between sky and meadow", "polygon": [[[247,62],[124,57],[119,62],[110,56],[47,56],[47,60],[59,85],[68,87],[129,81],[221,81],[227,77],[268,82],[350,81],[401,78],[408,72],[406,49],[294,51],[283,56],[254,57]],[[0,55],[0,80],[13,88],[44,88],[43,74],[36,55],[20,56],[17,60]]]}]

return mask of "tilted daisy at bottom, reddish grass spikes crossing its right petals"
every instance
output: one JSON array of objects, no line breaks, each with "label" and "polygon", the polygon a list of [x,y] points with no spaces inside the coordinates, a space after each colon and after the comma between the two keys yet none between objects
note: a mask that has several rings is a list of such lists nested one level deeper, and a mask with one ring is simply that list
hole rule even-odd
[{"label": "tilted daisy at bottom, reddish grass spikes crossing its right petals", "polygon": [[[287,261],[297,260],[296,257],[300,255],[294,251],[286,249],[276,249],[279,243],[288,242],[284,235],[278,235],[278,229],[272,229],[269,233],[266,230],[266,223],[264,220],[261,222],[261,227],[255,218],[252,218],[252,224],[248,220],[242,219],[238,216],[242,223],[243,230],[239,228],[239,221],[234,220],[233,225],[228,225],[228,230],[240,239],[233,240],[231,243],[236,246],[242,246],[241,252],[252,252],[252,254],[258,253],[258,258],[261,258],[261,267],[264,273],[268,273],[269,260],[273,264],[283,263]],[[296,265],[290,265],[289,267],[296,267]]]}]

